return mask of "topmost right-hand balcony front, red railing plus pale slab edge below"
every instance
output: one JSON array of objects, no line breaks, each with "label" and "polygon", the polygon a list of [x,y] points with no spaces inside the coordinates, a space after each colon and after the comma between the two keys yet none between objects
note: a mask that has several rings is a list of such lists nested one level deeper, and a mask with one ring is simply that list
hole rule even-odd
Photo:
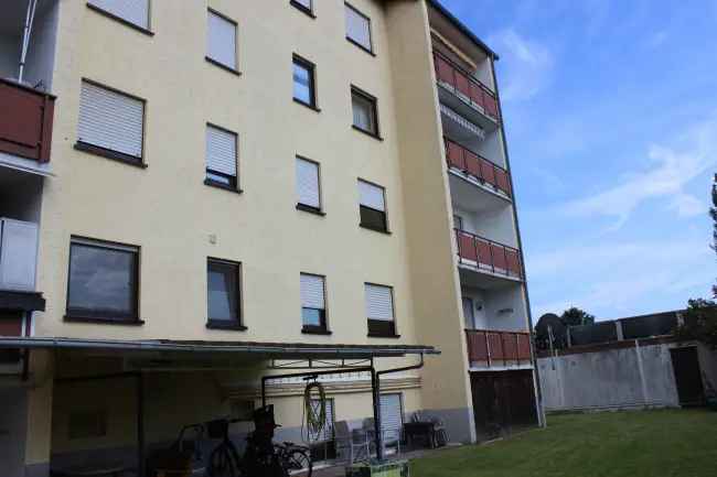
[{"label": "topmost right-hand balcony front, red railing plus pale slab edge below", "polygon": [[497,98],[488,86],[437,51],[434,51],[434,66],[441,102],[488,131],[497,129]]}]

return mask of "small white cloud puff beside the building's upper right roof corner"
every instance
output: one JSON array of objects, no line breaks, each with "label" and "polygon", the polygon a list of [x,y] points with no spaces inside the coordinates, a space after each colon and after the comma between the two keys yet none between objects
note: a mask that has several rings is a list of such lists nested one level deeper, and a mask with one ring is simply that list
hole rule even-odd
[{"label": "small white cloud puff beside the building's upper right roof corner", "polygon": [[549,83],[554,61],[550,51],[521,36],[513,29],[502,30],[489,37],[501,55],[501,98],[504,101],[524,101],[537,95]]}]

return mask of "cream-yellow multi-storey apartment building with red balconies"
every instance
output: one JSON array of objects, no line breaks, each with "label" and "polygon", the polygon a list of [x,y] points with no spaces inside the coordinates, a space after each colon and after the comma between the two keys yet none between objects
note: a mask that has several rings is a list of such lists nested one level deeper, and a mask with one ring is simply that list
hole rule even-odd
[{"label": "cream-yellow multi-storey apartment building with red balconies", "polygon": [[497,57],[438,2],[2,9],[7,475],[141,475],[299,369],[330,422],[267,382],[283,438],[539,422]]}]

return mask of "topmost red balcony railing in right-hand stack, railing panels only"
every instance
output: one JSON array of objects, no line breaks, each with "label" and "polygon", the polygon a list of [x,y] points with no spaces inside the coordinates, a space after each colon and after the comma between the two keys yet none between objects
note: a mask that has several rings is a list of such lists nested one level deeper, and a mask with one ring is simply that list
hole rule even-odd
[{"label": "topmost red balcony railing in right-hand stack, railing panels only", "polygon": [[449,85],[463,100],[497,121],[497,99],[488,86],[437,51],[434,51],[434,65],[439,83]]}]

